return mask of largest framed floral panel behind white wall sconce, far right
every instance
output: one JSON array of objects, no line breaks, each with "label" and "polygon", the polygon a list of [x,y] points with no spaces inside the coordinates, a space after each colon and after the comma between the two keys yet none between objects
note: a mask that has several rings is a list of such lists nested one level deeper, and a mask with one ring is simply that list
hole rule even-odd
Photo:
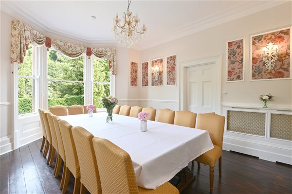
[{"label": "largest framed floral panel behind white wall sconce, far right", "polygon": [[[291,27],[251,36],[251,81],[291,79],[290,39]],[[278,53],[274,63],[264,62],[263,54],[269,49],[268,44],[274,45],[272,51]]]}]

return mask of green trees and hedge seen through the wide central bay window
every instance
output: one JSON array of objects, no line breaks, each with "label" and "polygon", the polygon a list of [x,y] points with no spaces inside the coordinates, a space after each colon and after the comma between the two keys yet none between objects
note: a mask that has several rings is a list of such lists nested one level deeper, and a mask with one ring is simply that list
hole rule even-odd
[{"label": "green trees and hedge seen through the wide central bay window", "polygon": [[48,53],[48,106],[84,105],[84,57]]}]

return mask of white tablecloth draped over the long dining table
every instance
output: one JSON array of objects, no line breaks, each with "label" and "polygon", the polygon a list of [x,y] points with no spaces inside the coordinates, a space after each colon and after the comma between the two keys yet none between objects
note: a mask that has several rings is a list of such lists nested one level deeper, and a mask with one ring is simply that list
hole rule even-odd
[{"label": "white tablecloth draped over the long dining table", "polygon": [[137,183],[155,189],[174,177],[193,159],[214,146],[207,131],[173,124],[148,121],[147,131],[140,131],[140,120],[107,113],[62,116],[73,126],[82,126],[95,137],[108,139],[130,155]]}]

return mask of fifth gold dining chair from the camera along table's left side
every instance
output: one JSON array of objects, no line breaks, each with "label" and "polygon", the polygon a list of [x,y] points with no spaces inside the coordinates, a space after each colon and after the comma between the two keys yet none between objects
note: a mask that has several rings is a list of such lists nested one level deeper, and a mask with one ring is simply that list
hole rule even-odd
[{"label": "fifth gold dining chair from the camera along table's left side", "polygon": [[49,166],[52,166],[53,161],[55,159],[55,151],[57,151],[57,153],[58,153],[58,141],[57,141],[56,132],[55,132],[55,125],[54,125],[54,121],[53,121],[54,115],[51,112],[47,112],[45,114],[47,115],[47,118],[48,118],[50,130],[51,130],[51,136],[52,136],[52,148],[50,150],[51,157],[50,157],[50,162],[49,162]]}]

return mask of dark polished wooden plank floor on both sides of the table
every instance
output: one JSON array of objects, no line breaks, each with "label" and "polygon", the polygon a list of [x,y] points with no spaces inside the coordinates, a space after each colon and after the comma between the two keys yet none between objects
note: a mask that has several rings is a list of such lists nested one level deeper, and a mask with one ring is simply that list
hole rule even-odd
[{"label": "dark polished wooden plank floor on both sides of the table", "polygon": [[[60,178],[53,176],[39,152],[40,140],[0,156],[1,194],[58,194]],[[183,194],[209,193],[209,167],[192,167],[196,180]],[[62,172],[60,172],[61,174]],[[73,192],[73,183],[68,186]],[[223,151],[222,176],[215,168],[213,194],[292,194],[292,166],[269,162],[235,152]]]}]

